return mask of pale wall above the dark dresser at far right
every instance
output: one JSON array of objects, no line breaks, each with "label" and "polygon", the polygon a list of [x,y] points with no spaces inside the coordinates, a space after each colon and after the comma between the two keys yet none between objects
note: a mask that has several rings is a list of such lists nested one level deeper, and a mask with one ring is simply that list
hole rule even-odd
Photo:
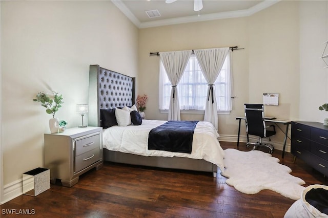
[{"label": "pale wall above the dark dresser at far right", "polygon": [[[328,102],[328,68],[320,58],[328,40],[328,1],[300,4],[299,119],[323,122],[327,112],[318,107]],[[326,58],[327,61],[327,58]]]}]

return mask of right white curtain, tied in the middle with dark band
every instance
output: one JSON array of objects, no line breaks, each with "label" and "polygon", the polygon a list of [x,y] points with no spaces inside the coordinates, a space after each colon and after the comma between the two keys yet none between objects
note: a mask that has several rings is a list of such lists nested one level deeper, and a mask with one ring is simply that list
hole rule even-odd
[{"label": "right white curtain, tied in the middle with dark band", "polygon": [[213,85],[221,71],[228,52],[229,48],[194,50],[201,71],[208,82],[208,97],[205,105],[204,121],[211,122],[216,129],[219,127],[219,121]]}]

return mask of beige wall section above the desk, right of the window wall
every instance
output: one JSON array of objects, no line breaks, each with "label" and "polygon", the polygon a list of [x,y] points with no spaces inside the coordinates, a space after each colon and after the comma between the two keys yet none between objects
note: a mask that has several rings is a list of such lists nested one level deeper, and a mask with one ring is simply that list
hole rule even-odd
[{"label": "beige wall section above the desk, right of the window wall", "polygon": [[299,116],[299,2],[284,1],[249,17],[249,102],[279,93],[279,106],[265,113],[281,119]]}]

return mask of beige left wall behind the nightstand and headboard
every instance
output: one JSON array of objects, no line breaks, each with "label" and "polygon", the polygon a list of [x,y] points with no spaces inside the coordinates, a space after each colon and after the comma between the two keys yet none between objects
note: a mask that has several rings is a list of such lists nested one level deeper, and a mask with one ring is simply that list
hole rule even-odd
[{"label": "beige left wall behind the nightstand and headboard", "polygon": [[1,1],[5,188],[43,166],[51,115],[32,101],[37,92],[63,94],[56,117],[77,126],[89,65],[136,77],[137,41],[138,29],[110,1]]}]

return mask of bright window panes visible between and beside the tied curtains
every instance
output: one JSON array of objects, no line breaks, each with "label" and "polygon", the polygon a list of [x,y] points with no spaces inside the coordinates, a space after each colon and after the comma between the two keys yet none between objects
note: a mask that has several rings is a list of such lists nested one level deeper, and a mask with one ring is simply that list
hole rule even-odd
[{"label": "bright window panes visible between and beside the tied curtains", "polygon": [[[217,110],[231,111],[230,57],[227,55],[221,72],[213,86],[216,94]],[[160,61],[159,109],[169,110],[171,82]],[[185,72],[177,85],[180,110],[204,111],[208,96],[208,83],[204,78],[195,55],[191,55]]]}]

